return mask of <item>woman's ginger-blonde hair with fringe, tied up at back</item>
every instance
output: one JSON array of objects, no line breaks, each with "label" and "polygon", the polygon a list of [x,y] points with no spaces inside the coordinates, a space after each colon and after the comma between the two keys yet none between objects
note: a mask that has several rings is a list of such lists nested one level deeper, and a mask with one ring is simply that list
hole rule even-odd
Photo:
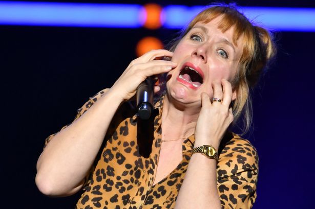
[{"label": "woman's ginger-blonde hair with fringe, tied up at back", "polygon": [[224,33],[234,27],[233,42],[242,36],[243,50],[238,65],[238,72],[232,81],[233,89],[237,92],[237,98],[232,103],[234,124],[243,115],[243,134],[246,133],[251,124],[251,99],[249,89],[258,82],[263,69],[276,54],[275,44],[266,29],[250,22],[247,17],[239,12],[235,4],[213,4],[203,9],[197,16],[181,31],[181,34],[171,43],[170,51],[175,50],[179,41],[194,27],[197,22],[209,21],[222,17],[219,29]]}]

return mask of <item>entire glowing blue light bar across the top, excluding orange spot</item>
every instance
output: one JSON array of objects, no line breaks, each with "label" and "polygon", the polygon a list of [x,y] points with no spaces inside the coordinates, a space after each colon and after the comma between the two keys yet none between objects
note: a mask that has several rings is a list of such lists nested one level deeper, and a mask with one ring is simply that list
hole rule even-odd
[{"label": "entire glowing blue light bar across the top, excluding orange spot", "polygon": [[[163,27],[181,29],[202,9],[170,5],[161,15]],[[277,31],[315,32],[315,8],[240,7],[249,19]],[[1,2],[0,25],[140,28],[141,5]]]}]

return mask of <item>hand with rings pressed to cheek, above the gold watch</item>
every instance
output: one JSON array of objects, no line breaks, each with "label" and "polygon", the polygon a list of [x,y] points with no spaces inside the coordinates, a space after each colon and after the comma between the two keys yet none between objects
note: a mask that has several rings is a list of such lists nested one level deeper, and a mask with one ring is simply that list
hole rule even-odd
[{"label": "hand with rings pressed to cheek, above the gold watch", "polygon": [[197,120],[195,131],[195,147],[212,145],[218,150],[223,134],[233,122],[232,108],[232,85],[225,79],[220,84],[213,84],[213,98],[222,101],[213,101],[213,98],[201,93],[201,111]]}]

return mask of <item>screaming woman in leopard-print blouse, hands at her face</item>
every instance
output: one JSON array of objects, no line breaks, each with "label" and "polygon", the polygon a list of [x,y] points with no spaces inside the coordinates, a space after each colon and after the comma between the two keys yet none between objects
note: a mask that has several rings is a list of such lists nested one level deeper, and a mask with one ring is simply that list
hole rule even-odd
[{"label": "screaming woman in leopard-print blouse, hands at her face", "polygon": [[[234,7],[215,5],[194,18],[171,51],[133,60],[71,125],[47,138],[37,162],[41,192],[67,196],[83,188],[76,208],[253,206],[258,156],[227,128],[242,111],[248,128],[248,89],[275,53],[269,33]],[[143,123],[126,101],[158,74],[167,74],[166,92]],[[154,128],[141,130],[140,123]]]}]

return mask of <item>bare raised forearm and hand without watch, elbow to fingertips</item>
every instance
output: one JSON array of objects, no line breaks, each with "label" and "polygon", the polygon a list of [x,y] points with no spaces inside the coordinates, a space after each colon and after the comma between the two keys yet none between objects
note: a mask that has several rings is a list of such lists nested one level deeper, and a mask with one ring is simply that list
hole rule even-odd
[{"label": "bare raised forearm and hand without watch, elbow to fingertips", "polygon": [[80,190],[120,102],[135,95],[146,77],[175,67],[170,61],[154,60],[172,55],[166,50],[154,50],[133,60],[110,91],[51,138],[37,161],[36,184],[42,193],[68,196]]}]

